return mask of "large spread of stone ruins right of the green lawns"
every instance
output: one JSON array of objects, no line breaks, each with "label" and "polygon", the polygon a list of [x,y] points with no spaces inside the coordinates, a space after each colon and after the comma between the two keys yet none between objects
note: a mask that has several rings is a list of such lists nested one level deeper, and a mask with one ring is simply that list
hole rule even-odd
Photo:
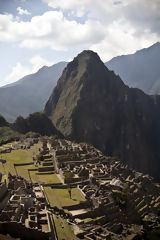
[{"label": "large spread of stone ruins right of the green lawns", "polygon": [[86,199],[84,204],[64,207],[79,228],[78,237],[143,239],[146,231],[160,227],[160,186],[152,177],[85,143],[54,140],[47,147],[57,172],[62,178],[72,173],[66,183],[77,186]]}]

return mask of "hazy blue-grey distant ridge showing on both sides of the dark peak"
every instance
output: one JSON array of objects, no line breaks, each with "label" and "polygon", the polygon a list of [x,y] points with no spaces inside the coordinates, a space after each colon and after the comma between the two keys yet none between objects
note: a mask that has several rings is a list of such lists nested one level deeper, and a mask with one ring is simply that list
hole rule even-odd
[{"label": "hazy blue-grey distant ridge showing on both sides of the dark peak", "polygon": [[[115,57],[105,65],[130,87],[148,94],[160,93],[160,43],[135,54]],[[66,62],[42,67],[19,81],[0,88],[0,113],[9,122],[41,111],[61,76]]]}]

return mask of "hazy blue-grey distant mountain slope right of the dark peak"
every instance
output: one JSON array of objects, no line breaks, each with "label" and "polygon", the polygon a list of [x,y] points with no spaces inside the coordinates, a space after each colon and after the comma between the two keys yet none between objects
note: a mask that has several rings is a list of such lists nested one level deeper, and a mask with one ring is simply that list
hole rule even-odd
[{"label": "hazy blue-grey distant mountain slope right of the dark peak", "polygon": [[114,70],[130,87],[148,94],[160,94],[160,43],[135,54],[115,57],[105,65]]}]

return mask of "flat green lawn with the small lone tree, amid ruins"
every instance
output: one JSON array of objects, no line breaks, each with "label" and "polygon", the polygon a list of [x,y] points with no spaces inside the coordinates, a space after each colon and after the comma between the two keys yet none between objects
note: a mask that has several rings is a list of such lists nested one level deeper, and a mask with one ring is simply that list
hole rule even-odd
[{"label": "flat green lawn with the small lone tree, amid ruins", "polygon": [[58,208],[62,208],[63,206],[76,205],[84,201],[84,198],[81,197],[77,188],[72,188],[71,199],[68,189],[52,189],[50,187],[45,187],[44,189],[51,207],[57,206]]}]

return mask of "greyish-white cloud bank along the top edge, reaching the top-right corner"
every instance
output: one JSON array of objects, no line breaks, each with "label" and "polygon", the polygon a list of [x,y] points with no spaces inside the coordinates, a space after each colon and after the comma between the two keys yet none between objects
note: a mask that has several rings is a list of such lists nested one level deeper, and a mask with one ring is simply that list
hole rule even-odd
[{"label": "greyish-white cloud bank along the top edge, reaching the top-right corner", "polygon": [[73,15],[78,12],[87,14],[89,18],[99,19],[101,23],[110,24],[121,18],[137,29],[138,34],[148,29],[151,33],[160,34],[160,1],[159,0],[43,0],[52,8],[69,11]]}]

